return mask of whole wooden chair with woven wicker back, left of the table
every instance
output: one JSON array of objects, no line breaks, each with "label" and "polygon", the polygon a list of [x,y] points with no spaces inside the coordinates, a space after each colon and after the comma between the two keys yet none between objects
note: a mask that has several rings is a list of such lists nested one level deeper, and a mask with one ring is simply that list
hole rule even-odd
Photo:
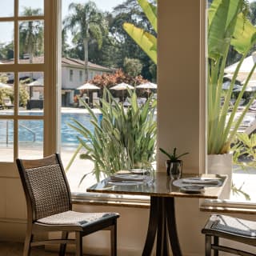
[{"label": "whole wooden chair with woven wicker back, left of the table", "polygon": [[[66,244],[75,244],[76,256],[82,255],[82,237],[98,230],[110,230],[111,255],[117,255],[116,213],[79,213],[72,210],[70,187],[58,154],[38,160],[17,159],[18,172],[26,195],[28,213],[23,256],[31,246],[60,244],[59,255],[65,255]],[[35,240],[34,234],[61,231],[61,239]],[[75,238],[68,238],[74,232]]]}]

